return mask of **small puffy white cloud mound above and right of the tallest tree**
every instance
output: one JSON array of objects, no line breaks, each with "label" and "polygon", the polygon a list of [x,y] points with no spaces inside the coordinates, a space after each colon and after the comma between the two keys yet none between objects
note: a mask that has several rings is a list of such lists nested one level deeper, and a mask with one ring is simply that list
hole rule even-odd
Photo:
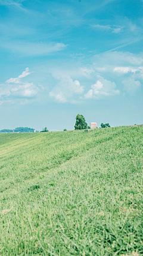
[{"label": "small puffy white cloud mound above and right of the tallest tree", "polygon": [[85,99],[95,98],[100,99],[102,97],[108,97],[111,95],[120,94],[119,90],[116,90],[116,83],[111,82],[103,77],[99,77],[97,83],[91,86],[91,89],[85,94]]}]

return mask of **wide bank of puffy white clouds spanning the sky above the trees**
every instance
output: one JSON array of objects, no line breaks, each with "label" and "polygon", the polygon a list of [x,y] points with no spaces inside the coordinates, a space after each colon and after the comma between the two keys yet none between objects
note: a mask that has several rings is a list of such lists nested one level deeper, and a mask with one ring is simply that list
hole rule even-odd
[{"label": "wide bank of puffy white clouds spanning the sky above the trees", "polygon": [[26,68],[18,77],[11,77],[0,85],[1,104],[17,99],[38,100],[39,97],[41,101],[44,98],[57,103],[83,104],[88,100],[135,94],[141,90],[143,53],[105,52],[94,55],[89,61],[92,64],[79,68],[74,65],[70,65],[69,69],[68,65],[51,70],[46,68],[42,76],[48,74],[51,82],[48,82],[48,86],[45,83],[45,87],[41,82],[41,85],[29,82],[32,72]]}]

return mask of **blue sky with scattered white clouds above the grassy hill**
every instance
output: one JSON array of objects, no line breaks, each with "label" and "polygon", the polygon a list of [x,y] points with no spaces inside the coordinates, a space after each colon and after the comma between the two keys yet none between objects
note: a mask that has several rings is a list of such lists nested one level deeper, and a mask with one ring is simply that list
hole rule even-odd
[{"label": "blue sky with scattered white clouds above the grassy hill", "polygon": [[143,1],[0,0],[0,129],[143,124]]}]

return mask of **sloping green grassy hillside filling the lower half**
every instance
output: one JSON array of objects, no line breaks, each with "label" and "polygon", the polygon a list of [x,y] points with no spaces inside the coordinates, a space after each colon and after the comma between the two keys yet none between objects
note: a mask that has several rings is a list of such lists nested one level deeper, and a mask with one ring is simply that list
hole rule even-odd
[{"label": "sloping green grassy hillside filling the lower half", "polygon": [[142,131],[0,134],[0,255],[142,255]]}]

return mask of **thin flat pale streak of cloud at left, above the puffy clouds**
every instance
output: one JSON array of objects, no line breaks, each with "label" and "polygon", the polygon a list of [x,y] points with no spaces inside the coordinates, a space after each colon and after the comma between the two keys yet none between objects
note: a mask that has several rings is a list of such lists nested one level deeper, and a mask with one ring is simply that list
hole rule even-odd
[{"label": "thin flat pale streak of cloud at left, above the puffy clouds", "polygon": [[24,43],[24,42],[13,42],[1,43],[1,47],[11,50],[12,52],[20,53],[25,56],[40,56],[49,55],[53,52],[58,52],[65,49],[66,44],[63,43]]}]

